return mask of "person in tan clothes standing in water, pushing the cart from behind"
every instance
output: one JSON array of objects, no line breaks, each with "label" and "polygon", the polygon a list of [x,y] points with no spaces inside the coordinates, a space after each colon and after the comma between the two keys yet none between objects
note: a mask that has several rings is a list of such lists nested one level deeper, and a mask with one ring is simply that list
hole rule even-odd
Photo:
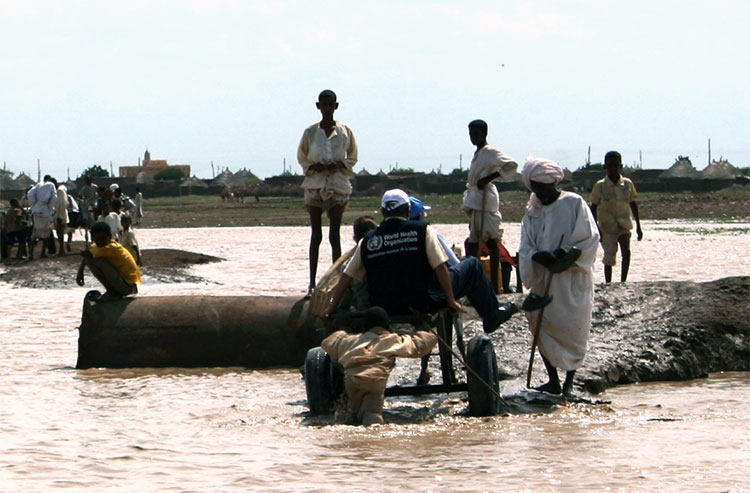
[{"label": "person in tan clothes standing in water, pushing the cart from behind", "polygon": [[431,332],[414,335],[389,330],[388,314],[380,307],[365,312],[364,333],[339,330],[326,337],[321,347],[345,369],[344,382],[354,424],[383,424],[383,403],[388,376],[396,358],[420,358],[437,344]]}]

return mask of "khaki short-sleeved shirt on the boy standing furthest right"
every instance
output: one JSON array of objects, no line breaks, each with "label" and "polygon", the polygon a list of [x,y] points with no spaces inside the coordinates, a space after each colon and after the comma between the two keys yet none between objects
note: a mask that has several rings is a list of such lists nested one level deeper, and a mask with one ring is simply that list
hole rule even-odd
[{"label": "khaki short-sleeved shirt on the boy standing furthest right", "polygon": [[597,222],[604,233],[617,234],[633,229],[630,203],[636,195],[635,185],[624,176],[620,176],[617,183],[604,177],[594,184],[591,204],[596,206]]}]

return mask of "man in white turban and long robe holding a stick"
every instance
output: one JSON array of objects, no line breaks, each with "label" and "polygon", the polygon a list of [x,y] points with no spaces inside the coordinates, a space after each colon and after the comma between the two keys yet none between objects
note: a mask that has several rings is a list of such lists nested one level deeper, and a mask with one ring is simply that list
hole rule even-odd
[{"label": "man in white turban and long robe holding a stick", "polygon": [[[563,178],[559,164],[529,158],[522,178],[533,193],[521,223],[521,279],[532,293],[542,295],[552,277],[552,303],[544,310],[538,335],[549,382],[538,390],[569,394],[575,371],[583,363],[591,329],[599,233],[585,200],[575,193],[557,190],[556,184]],[[581,256],[567,270],[550,272],[548,267],[573,247],[581,251]],[[533,333],[537,314],[527,316]],[[567,372],[562,388],[557,368]]]}]

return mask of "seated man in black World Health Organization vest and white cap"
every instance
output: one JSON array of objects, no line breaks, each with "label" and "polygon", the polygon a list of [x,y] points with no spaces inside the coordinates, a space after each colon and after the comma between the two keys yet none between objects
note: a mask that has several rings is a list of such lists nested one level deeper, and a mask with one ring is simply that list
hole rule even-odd
[{"label": "seated man in black World Health Organization vest and white cap", "polygon": [[[411,310],[428,313],[441,306],[460,311],[456,298],[466,296],[482,318],[484,331],[490,333],[518,311],[514,303],[498,301],[476,258],[449,268],[434,230],[425,222],[410,221],[409,209],[409,196],[403,190],[385,192],[381,201],[385,220],[360,241],[324,315],[336,309],[352,279],[365,277],[371,305],[384,308],[391,316]],[[441,297],[429,294],[435,279]],[[537,304],[548,302],[539,300]]]}]

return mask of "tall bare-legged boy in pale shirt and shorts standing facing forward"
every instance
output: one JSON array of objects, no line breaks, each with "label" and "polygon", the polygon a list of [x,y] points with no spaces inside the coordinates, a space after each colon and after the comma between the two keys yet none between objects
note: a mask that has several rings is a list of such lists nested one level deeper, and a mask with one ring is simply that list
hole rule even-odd
[{"label": "tall bare-legged boy in pale shirt and shorts standing facing forward", "polygon": [[330,221],[328,241],[331,243],[332,262],[341,256],[341,219],[349,203],[357,162],[357,141],[354,132],[345,123],[334,120],[339,107],[336,93],[326,89],[318,95],[315,106],[321,120],[305,129],[297,148],[297,161],[302,166],[305,179],[305,208],[310,214],[310,283],[306,298],[315,288],[318,271],[320,243],[323,240],[322,216],[325,211]]}]

